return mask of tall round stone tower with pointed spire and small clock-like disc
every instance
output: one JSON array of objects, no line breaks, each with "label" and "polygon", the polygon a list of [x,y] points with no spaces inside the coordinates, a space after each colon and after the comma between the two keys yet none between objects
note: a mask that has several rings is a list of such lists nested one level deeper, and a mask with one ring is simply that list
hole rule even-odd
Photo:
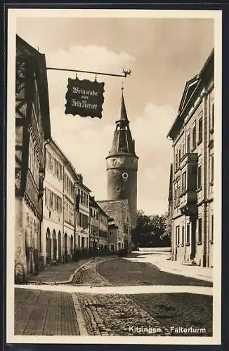
[{"label": "tall round stone tower with pointed spire and small clock-like disc", "polygon": [[112,147],[107,160],[107,199],[128,199],[132,227],[136,226],[137,215],[137,171],[138,156],[129,128],[124,96],[120,118],[116,121]]}]

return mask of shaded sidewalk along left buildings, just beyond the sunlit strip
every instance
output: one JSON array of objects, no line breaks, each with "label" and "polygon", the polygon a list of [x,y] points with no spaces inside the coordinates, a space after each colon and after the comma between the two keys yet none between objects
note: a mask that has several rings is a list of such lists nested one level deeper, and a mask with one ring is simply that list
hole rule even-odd
[{"label": "shaded sidewalk along left buildings, just beyond the sunlit strip", "polygon": [[77,270],[81,265],[84,265],[89,259],[82,259],[78,262],[69,262],[64,264],[58,264],[48,266],[41,270],[37,275],[30,275],[28,282],[67,282],[70,279],[74,271]]}]

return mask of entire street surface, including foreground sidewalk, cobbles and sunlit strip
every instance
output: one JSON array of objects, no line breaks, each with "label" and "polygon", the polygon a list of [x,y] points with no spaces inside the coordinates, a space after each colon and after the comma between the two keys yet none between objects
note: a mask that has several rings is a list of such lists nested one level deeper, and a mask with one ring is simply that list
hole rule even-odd
[{"label": "entire street surface, including foreground sidewalk, cobbles and sunlit strip", "polygon": [[62,265],[15,286],[15,335],[212,336],[212,283],[139,261],[69,263],[68,284],[51,282]]}]

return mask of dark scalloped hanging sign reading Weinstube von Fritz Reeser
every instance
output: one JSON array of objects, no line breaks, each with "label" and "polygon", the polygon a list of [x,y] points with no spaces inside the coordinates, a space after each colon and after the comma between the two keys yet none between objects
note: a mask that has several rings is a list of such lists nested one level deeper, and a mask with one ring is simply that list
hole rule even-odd
[{"label": "dark scalloped hanging sign reading Weinstube von Fritz Reeser", "polygon": [[104,83],[68,79],[65,114],[102,118]]}]

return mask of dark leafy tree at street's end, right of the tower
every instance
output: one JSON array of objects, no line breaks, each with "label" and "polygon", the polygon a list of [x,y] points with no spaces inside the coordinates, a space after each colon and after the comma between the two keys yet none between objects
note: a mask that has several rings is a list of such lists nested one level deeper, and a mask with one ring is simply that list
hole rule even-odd
[{"label": "dark leafy tree at street's end, right of the tower", "polygon": [[166,216],[147,216],[140,210],[137,213],[137,224],[133,230],[132,241],[136,246],[164,246],[161,235],[166,231]]}]

